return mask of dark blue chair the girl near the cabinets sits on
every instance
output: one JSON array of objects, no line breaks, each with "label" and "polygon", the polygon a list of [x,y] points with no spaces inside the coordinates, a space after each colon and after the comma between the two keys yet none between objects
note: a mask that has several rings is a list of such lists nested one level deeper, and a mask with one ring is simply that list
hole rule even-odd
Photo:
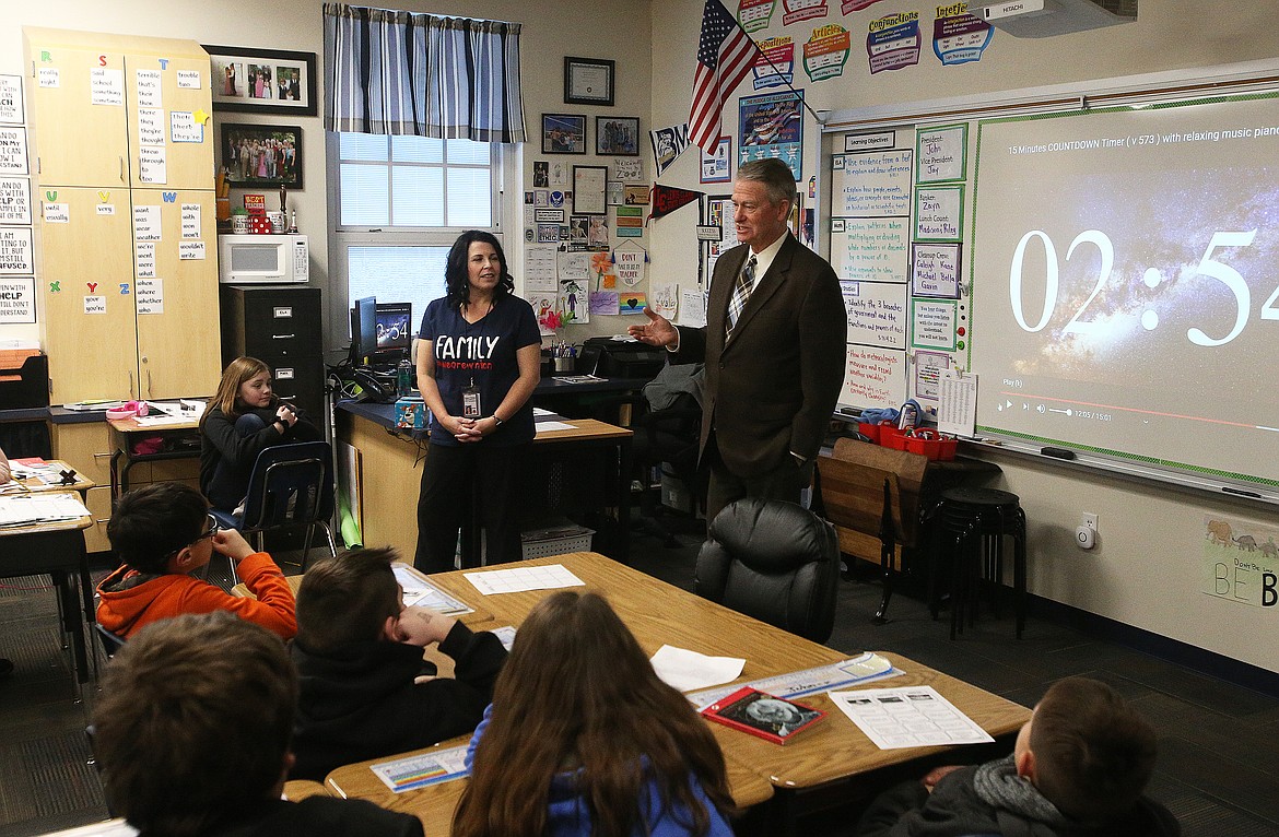
[{"label": "dark blue chair the girl near the cabinets sits on", "polygon": [[[333,455],[329,442],[294,442],[263,449],[253,463],[248,480],[248,497],[240,516],[212,510],[219,523],[253,535],[262,549],[263,534],[275,529],[306,526],[302,544],[302,569],[311,555],[316,526],[324,529],[329,552],[338,555],[329,521],[333,519]],[[235,584],[231,567],[231,584]]]}]

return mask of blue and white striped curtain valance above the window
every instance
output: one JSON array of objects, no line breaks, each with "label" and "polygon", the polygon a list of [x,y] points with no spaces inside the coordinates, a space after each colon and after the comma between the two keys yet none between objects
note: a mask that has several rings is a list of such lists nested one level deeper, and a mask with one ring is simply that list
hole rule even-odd
[{"label": "blue and white striped curtain valance above the window", "polygon": [[326,3],[324,127],[524,142],[519,24]]}]

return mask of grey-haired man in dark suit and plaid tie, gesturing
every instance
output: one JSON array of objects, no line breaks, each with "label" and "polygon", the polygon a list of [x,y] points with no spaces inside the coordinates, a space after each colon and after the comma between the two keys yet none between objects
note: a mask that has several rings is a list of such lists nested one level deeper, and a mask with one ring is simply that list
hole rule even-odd
[{"label": "grey-haired man in dark suit and plaid tie, gesturing", "polygon": [[701,461],[707,520],[742,497],[799,501],[844,380],[847,314],[830,265],[787,227],[796,181],[780,160],[738,169],[741,247],[715,263],[703,328],[646,309],[631,336],[673,363],[706,362]]}]

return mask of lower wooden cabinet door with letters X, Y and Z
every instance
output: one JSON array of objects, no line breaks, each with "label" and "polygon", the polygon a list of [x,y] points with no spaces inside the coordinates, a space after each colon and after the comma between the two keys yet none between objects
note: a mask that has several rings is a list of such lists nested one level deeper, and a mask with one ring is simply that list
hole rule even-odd
[{"label": "lower wooden cabinet door with letters X, Y and Z", "polygon": [[42,185],[37,196],[50,397],[137,397],[129,189]]}]

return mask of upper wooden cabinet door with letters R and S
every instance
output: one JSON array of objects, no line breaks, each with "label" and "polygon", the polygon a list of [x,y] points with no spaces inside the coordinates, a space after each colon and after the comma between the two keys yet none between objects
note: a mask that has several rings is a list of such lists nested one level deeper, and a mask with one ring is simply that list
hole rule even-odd
[{"label": "upper wooden cabinet door with letters R and S", "polygon": [[28,43],[35,160],[41,187],[129,185],[124,56]]}]

